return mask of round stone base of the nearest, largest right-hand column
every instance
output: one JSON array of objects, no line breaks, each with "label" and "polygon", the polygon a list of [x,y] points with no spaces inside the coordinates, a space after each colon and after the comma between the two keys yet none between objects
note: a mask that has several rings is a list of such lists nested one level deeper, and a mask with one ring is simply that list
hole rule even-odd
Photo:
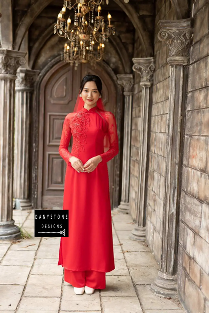
[{"label": "round stone base of the nearest, largest right-hand column", "polygon": [[177,275],[168,275],[159,271],[158,276],[151,284],[151,290],[156,295],[175,298],[177,296]]}]

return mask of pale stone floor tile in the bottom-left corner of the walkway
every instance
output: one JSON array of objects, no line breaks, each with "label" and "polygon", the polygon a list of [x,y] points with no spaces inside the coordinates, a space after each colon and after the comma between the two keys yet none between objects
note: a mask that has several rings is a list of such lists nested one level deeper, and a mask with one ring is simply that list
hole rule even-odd
[{"label": "pale stone floor tile in the bottom-left corner of the walkway", "polygon": [[0,312],[16,310],[24,286],[0,285],[1,306]]}]

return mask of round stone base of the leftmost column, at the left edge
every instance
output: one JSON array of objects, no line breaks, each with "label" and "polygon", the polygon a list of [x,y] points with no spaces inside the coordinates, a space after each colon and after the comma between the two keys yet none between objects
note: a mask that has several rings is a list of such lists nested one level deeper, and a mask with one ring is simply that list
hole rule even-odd
[{"label": "round stone base of the leftmost column, at the left edge", "polygon": [[9,222],[0,222],[0,240],[11,239],[22,239],[20,228],[15,225],[15,221],[13,219]]}]

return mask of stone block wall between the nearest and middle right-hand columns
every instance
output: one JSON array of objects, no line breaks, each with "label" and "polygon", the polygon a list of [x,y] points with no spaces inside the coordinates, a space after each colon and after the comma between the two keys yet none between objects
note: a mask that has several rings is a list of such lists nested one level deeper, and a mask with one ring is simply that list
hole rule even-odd
[{"label": "stone block wall between the nearest and middle right-hand columns", "polygon": [[169,65],[167,64],[168,48],[165,43],[158,40],[157,34],[159,20],[176,20],[171,2],[169,0],[156,2],[154,58],[155,72],[153,76],[153,94],[150,145],[149,145],[149,170],[147,188],[147,243],[155,258],[160,262],[162,245],[162,220],[164,176],[167,137],[167,113],[169,97]]}]

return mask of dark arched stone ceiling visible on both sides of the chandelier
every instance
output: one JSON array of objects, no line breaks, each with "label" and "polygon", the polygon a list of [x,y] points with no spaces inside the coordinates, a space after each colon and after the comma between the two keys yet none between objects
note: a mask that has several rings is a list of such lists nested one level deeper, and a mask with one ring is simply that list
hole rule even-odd
[{"label": "dark arched stone ceiling visible on both sides of the chandelier", "polygon": [[[152,56],[153,54],[151,44],[152,30],[150,27],[152,24],[154,27],[154,23],[152,23],[152,3],[152,0],[147,0],[146,4],[138,0],[130,0],[129,4],[125,4],[124,0],[112,0],[108,6],[102,6],[102,14],[104,16],[107,16],[108,11],[111,12],[119,37],[122,36],[122,38],[126,38],[130,41],[127,35],[127,29],[124,30],[123,25],[129,25],[129,32],[130,34],[132,33],[132,36],[133,33],[137,33],[145,56]],[[31,0],[16,0],[14,2],[14,29],[16,30],[14,49],[20,50],[21,43],[28,30],[29,38],[31,38],[32,29],[34,29],[34,37],[36,37],[37,42],[41,35],[46,32],[47,28],[56,21],[56,16],[62,8],[62,4],[63,0],[36,0],[33,2],[31,2]],[[40,18],[42,18],[42,23],[37,28],[36,22],[37,20],[40,21]],[[121,29],[121,31],[119,29]],[[124,31],[125,36],[123,34]],[[121,41],[123,42],[123,39]],[[32,42],[29,40],[29,45],[35,44],[32,44]],[[129,53],[129,49],[131,49],[130,44],[127,43],[126,45],[129,45],[128,49],[126,46],[126,50],[128,50]]]}]

